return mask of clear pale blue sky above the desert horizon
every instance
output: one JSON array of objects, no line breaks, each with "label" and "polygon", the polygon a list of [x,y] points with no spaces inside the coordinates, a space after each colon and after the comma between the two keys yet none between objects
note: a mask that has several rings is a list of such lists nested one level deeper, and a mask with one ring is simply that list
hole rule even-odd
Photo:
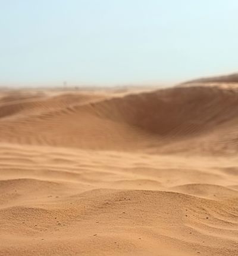
[{"label": "clear pale blue sky above the desert horizon", "polygon": [[237,0],[0,0],[0,85],[238,71]]}]

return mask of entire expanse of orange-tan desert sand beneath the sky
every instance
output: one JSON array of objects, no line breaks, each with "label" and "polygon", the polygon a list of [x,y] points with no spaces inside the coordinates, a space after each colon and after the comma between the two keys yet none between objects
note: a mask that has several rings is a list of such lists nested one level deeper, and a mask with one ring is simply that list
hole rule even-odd
[{"label": "entire expanse of orange-tan desert sand beneath the sky", "polygon": [[0,255],[238,255],[237,88],[2,90]]}]

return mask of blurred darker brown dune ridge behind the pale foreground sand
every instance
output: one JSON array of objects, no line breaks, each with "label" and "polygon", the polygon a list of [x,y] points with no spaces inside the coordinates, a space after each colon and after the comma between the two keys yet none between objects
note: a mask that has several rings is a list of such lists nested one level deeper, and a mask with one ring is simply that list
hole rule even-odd
[{"label": "blurred darker brown dune ridge behind the pale foreground sand", "polygon": [[237,95],[236,89],[200,86],[124,97],[71,92],[4,100],[0,141],[149,153],[236,154]]}]

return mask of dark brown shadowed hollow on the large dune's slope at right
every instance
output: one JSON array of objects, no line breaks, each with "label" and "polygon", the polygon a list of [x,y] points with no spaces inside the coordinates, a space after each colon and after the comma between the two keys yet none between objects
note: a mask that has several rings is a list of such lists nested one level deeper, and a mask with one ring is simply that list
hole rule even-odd
[{"label": "dark brown shadowed hollow on the large dune's slope at right", "polygon": [[92,103],[100,116],[158,135],[197,134],[237,118],[238,94],[217,87],[177,87]]}]

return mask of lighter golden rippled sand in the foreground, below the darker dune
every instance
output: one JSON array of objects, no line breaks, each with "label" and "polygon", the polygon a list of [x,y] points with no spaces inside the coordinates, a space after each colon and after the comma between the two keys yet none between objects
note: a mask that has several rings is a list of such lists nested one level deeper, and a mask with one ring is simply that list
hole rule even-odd
[{"label": "lighter golden rippled sand in the foreground, below the darker dune", "polygon": [[237,158],[5,144],[0,163],[1,255],[237,255]]}]

